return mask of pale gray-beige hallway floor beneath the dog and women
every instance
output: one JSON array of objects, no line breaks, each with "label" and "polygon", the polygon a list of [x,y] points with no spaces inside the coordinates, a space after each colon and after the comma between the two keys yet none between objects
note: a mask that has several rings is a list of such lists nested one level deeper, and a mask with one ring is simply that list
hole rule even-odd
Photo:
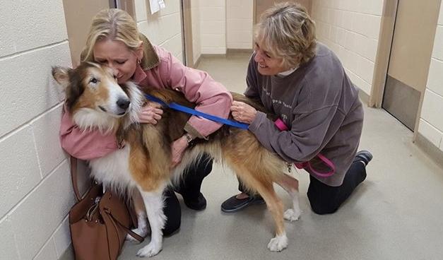
[{"label": "pale gray-beige hallway floor beneath the dog and women", "polygon": [[[247,54],[203,59],[208,71],[230,90],[244,90]],[[182,204],[182,228],[163,242],[153,259],[443,259],[443,169],[412,143],[413,134],[384,110],[365,108],[360,148],[374,159],[368,177],[332,215],[312,213],[306,172],[300,179],[302,216],[285,223],[289,246],[280,253],[266,249],[273,221],[266,206],[234,214],[220,203],[237,193],[235,177],[215,167],[203,182],[208,207],[192,211]],[[285,202],[290,200],[277,189]],[[143,244],[126,243],[120,259],[137,259]]]}]

